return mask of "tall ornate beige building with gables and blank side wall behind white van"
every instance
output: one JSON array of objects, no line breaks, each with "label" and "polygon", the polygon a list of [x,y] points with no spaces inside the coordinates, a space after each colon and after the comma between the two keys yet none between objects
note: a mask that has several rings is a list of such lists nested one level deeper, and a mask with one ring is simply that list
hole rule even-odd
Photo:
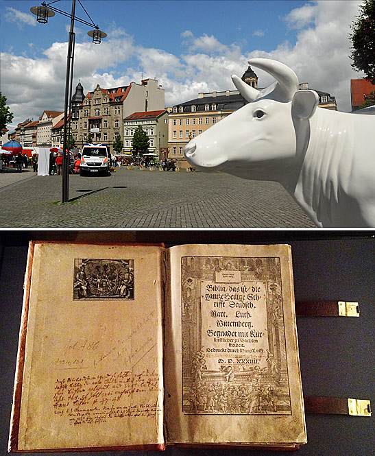
[{"label": "tall ornate beige building with gables and blank side wall behind white van", "polygon": [[73,106],[73,97],[71,133],[77,149],[81,150],[90,140],[105,143],[110,153],[114,154],[113,143],[116,137],[123,139],[124,117],[133,112],[164,110],[164,99],[164,89],[158,85],[158,81],[152,79],[143,80],[141,84],[132,82],[128,86],[108,89],[101,88],[98,84],[93,92],[84,97],[79,107],[77,104]]}]

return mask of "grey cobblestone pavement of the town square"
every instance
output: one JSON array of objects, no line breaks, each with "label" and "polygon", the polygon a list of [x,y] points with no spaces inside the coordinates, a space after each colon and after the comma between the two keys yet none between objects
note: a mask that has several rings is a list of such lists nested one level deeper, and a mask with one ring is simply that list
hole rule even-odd
[{"label": "grey cobblestone pavement of the town square", "polygon": [[118,167],[111,176],[70,175],[69,202],[59,204],[61,176],[32,176],[25,170],[16,182],[7,172],[0,173],[3,228],[314,226],[277,182]]}]

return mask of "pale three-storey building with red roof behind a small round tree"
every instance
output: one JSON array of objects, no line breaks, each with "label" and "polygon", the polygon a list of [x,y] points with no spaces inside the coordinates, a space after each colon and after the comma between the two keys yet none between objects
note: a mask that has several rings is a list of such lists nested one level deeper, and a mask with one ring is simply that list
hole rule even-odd
[{"label": "pale three-storey building with red roof behind a small round tree", "polygon": [[148,152],[154,154],[157,160],[162,160],[160,151],[168,147],[168,110],[133,112],[123,119],[125,156],[132,156],[132,138],[138,125],[141,125],[149,137]]}]

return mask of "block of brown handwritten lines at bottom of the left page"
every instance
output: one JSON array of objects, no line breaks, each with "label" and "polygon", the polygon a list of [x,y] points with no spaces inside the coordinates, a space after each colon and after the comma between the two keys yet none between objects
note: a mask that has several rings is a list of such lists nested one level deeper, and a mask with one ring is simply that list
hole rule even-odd
[{"label": "block of brown handwritten lines at bottom of the left page", "polygon": [[[156,405],[159,392],[156,371],[65,376],[56,379],[53,409],[56,415],[69,418],[73,425],[130,416],[155,417],[161,411]],[[142,400],[145,397],[147,401]],[[155,398],[155,403],[151,398]]]}]

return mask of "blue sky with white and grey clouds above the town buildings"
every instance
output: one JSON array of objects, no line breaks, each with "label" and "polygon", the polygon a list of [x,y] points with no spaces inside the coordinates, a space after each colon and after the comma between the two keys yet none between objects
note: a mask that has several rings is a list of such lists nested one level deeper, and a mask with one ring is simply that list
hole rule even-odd
[{"label": "blue sky with white and grey clouds above the town buildings", "polygon": [[[43,110],[63,110],[69,19],[56,14],[36,22],[30,8],[40,3],[1,1],[1,92],[17,123],[38,119]],[[46,3],[49,1],[46,0]],[[108,34],[101,45],[75,24],[74,86],[85,93],[153,77],[165,88],[165,105],[198,92],[234,89],[230,75],[242,75],[247,59],[280,60],[309,88],[326,91],[341,111],[350,111],[352,70],[350,25],[359,0],[81,0],[76,16]],[[53,6],[71,11],[71,1]],[[258,85],[272,82],[255,69]]]}]

